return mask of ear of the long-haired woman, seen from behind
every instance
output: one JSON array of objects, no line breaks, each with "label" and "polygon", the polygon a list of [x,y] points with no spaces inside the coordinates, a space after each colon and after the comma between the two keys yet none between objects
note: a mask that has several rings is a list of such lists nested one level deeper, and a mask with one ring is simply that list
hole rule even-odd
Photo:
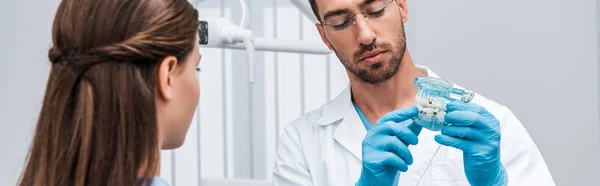
[{"label": "ear of the long-haired woman, seen from behind", "polygon": [[173,98],[173,78],[177,69],[177,58],[169,56],[160,62],[156,89],[158,97],[164,100]]}]

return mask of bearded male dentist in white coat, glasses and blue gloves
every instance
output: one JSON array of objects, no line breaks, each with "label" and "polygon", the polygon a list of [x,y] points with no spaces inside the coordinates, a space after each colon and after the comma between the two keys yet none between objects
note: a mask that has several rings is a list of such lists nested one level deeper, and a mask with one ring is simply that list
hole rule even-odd
[{"label": "bearded male dentist in white coat, glasses and blue gloves", "polygon": [[350,86],[285,127],[275,185],[554,185],[516,116],[482,95],[448,104],[441,132],[412,123],[413,80],[438,76],[407,50],[406,0],[310,3]]}]

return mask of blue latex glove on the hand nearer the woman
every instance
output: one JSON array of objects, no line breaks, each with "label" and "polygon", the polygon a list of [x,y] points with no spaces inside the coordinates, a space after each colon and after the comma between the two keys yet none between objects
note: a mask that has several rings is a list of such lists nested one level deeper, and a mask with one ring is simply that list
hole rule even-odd
[{"label": "blue latex glove on the hand nearer the woman", "polygon": [[418,113],[414,106],[392,111],[367,132],[362,143],[362,171],[357,186],[392,185],[398,171],[408,170],[408,165],[413,163],[408,145],[417,144],[417,135],[422,129],[410,118]]}]

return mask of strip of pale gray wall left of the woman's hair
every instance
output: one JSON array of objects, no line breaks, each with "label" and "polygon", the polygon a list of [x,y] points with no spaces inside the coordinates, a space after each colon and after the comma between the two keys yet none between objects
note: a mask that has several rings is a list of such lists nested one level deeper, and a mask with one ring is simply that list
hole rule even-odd
[{"label": "strip of pale gray wall left of the woman's hair", "polygon": [[48,76],[58,2],[0,2],[0,185],[14,185],[23,166]]}]

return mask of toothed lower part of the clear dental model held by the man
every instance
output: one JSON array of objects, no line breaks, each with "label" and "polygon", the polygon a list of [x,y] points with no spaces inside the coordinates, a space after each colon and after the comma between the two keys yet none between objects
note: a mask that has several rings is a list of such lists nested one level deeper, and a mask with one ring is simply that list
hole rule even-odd
[{"label": "toothed lower part of the clear dental model held by the man", "polygon": [[419,119],[429,121],[436,125],[444,124],[447,103],[445,99],[420,94],[417,96],[416,102],[417,108],[419,109]]}]

